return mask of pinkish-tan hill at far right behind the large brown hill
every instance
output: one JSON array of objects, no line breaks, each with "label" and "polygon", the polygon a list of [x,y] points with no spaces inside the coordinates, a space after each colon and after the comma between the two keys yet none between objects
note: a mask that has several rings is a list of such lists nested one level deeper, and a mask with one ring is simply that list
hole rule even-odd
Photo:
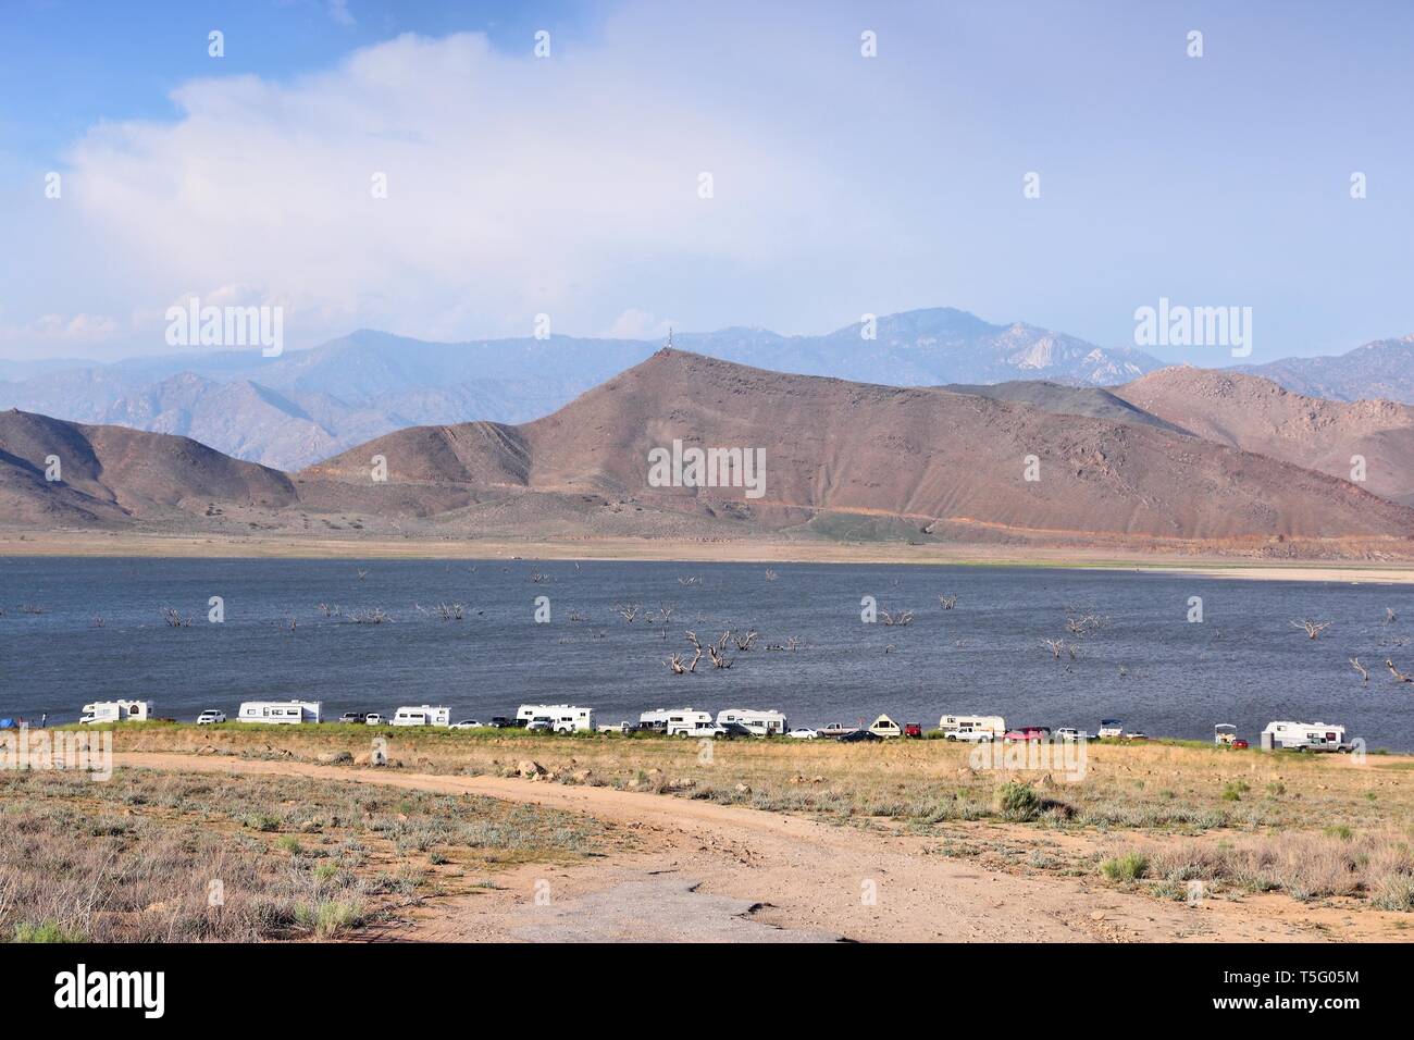
[{"label": "pinkish-tan hill at far right behind the large brown hill", "polygon": [[1365,458],[1363,487],[1414,504],[1414,408],[1325,400],[1274,382],[1205,368],[1165,368],[1113,388],[1135,408],[1193,434],[1342,480]]}]

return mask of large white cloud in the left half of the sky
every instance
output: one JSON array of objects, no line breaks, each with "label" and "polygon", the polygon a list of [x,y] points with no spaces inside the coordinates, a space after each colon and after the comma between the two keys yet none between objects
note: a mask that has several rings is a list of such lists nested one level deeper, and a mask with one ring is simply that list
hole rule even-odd
[{"label": "large white cloud in the left half of the sky", "polygon": [[[529,40],[508,57],[478,34],[403,35],[293,82],[192,81],[173,123],[93,127],[65,194],[83,235],[123,258],[140,324],[188,294],[260,286],[294,345],[355,327],[523,335],[539,313],[557,333],[656,335],[626,290],[701,294],[701,270],[749,284],[887,233],[878,214],[853,216],[867,207],[840,161],[730,76],[690,72],[660,30],[625,17],[551,59]],[[683,45],[732,41],[730,24],[715,33]],[[756,59],[813,89],[789,54]],[[157,342],[156,327],[133,331]]]}]

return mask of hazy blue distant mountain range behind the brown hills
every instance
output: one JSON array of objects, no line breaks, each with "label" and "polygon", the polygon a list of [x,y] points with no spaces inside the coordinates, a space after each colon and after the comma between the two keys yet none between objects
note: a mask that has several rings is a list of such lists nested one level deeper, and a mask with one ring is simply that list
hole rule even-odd
[{"label": "hazy blue distant mountain range behind the brown hills", "polygon": [[[995,325],[949,307],[885,316],[874,328],[854,324],[829,335],[724,328],[677,334],[674,344],[772,371],[947,385],[995,398],[1008,392],[981,388],[1044,381],[1055,386],[1049,408],[1066,388],[1116,386],[1164,368],[1137,349],[1096,347],[1022,323]],[[444,344],[359,331],[280,358],[192,349],[109,365],[0,362],[0,409],[188,436],[238,458],[296,470],[410,426],[546,416],[660,345],[559,335]],[[1261,375],[1307,396],[1414,403],[1414,337],[1333,358],[1226,371]],[[1082,400],[1100,409],[1096,417],[1118,419],[1113,409],[1128,408],[1113,396],[1083,396],[1072,409]]]}]

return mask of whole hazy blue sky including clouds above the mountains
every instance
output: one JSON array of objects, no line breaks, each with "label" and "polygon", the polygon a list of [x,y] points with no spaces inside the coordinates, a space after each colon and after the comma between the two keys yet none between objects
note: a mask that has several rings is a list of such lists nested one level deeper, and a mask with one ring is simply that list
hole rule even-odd
[{"label": "whole hazy blue sky including clouds above the mountains", "polygon": [[1411,51],[1403,1],[0,0],[0,357],[171,352],[189,296],[291,348],[930,306],[1124,345],[1168,297],[1339,352],[1414,333]]}]

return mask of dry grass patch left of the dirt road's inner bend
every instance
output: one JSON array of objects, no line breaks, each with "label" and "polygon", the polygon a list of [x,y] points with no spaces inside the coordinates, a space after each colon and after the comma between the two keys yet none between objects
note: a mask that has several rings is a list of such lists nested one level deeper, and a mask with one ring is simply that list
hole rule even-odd
[{"label": "dry grass patch left of the dirt road's inner bend", "polygon": [[489,798],[147,770],[3,775],[0,826],[3,938],[136,942],[335,938],[601,831]]}]

